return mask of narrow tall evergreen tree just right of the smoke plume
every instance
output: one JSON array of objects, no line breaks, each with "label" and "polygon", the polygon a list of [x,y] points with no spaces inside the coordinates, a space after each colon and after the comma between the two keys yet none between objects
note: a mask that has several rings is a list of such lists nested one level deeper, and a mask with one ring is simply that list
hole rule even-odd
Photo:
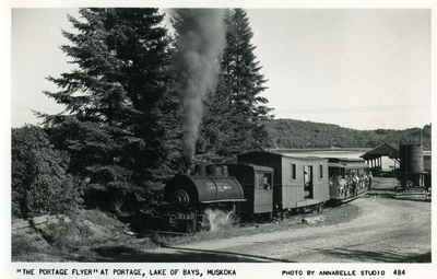
[{"label": "narrow tall evergreen tree just right of the smoke plume", "polygon": [[233,156],[269,144],[264,124],[271,118],[268,100],[260,94],[265,79],[250,43],[253,33],[241,9],[228,10],[221,74],[216,93],[203,119],[203,146],[221,156]]}]

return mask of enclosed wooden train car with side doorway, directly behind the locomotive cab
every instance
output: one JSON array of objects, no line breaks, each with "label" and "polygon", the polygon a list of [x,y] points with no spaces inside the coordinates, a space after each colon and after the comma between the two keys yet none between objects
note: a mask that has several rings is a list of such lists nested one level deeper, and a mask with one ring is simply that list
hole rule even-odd
[{"label": "enclosed wooden train car with side doorway, directly behind the locomotive cab", "polygon": [[293,158],[280,153],[253,151],[238,155],[238,163],[273,168],[274,211],[320,209],[329,200],[327,159]]}]

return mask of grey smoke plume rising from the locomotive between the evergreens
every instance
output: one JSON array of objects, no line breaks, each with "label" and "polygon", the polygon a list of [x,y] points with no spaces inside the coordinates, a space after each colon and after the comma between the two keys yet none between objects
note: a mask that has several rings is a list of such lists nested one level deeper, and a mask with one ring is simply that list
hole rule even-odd
[{"label": "grey smoke plume rising from the locomotive between the evergreens", "polygon": [[220,61],[225,46],[224,10],[176,9],[179,94],[184,109],[184,153],[188,161],[196,152],[196,142],[203,115],[203,101],[216,88]]}]

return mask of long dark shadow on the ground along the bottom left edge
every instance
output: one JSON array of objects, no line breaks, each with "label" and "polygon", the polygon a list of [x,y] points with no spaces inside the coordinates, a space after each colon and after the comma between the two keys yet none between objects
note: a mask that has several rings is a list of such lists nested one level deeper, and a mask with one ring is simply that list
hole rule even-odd
[{"label": "long dark shadow on the ground along the bottom left edge", "polygon": [[102,246],[94,248],[96,257],[78,258],[80,261],[101,263],[261,263],[284,261],[282,259],[268,258],[256,255],[203,251],[191,248],[178,248],[165,246],[167,252],[160,249],[150,253],[128,246]]}]

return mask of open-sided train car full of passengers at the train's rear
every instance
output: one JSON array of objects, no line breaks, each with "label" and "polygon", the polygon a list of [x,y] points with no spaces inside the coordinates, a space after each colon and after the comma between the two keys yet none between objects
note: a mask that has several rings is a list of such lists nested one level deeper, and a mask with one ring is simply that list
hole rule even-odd
[{"label": "open-sided train car full of passengers at the train's rear", "polygon": [[330,199],[345,202],[367,193],[371,184],[368,165],[361,159],[328,159]]}]

